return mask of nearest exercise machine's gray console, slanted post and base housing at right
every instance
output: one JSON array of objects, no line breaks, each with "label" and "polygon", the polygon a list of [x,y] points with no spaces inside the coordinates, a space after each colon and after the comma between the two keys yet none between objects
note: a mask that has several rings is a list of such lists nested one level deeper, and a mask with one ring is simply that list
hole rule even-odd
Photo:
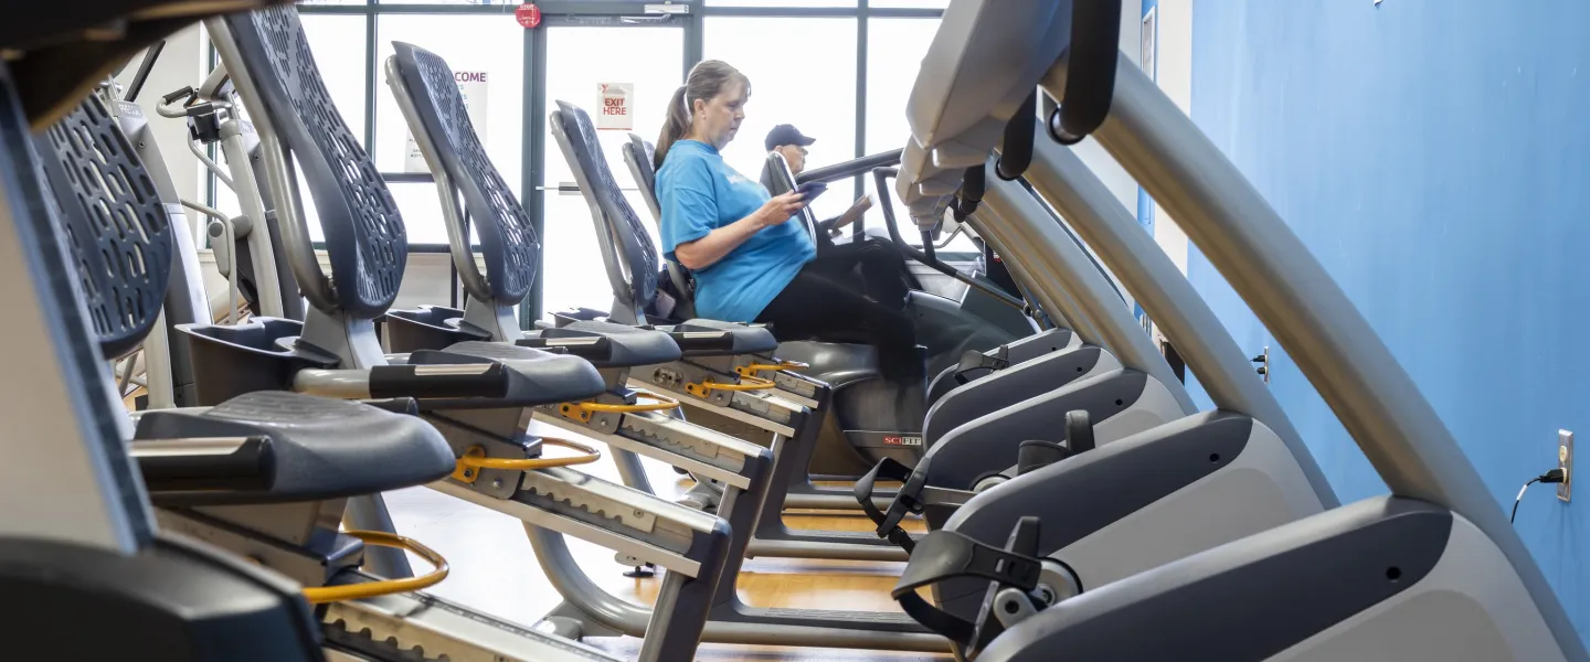
[{"label": "nearest exercise machine's gray console, slanted post and base housing at right", "polygon": [[913,89],[919,154],[898,192],[930,214],[1035,86],[1064,105],[1070,81],[1111,81],[1092,137],[1286,344],[1391,495],[1084,592],[979,659],[1590,659],[1452,433],[1262,195],[1126,56],[1070,71],[1073,5],[951,2]]}]

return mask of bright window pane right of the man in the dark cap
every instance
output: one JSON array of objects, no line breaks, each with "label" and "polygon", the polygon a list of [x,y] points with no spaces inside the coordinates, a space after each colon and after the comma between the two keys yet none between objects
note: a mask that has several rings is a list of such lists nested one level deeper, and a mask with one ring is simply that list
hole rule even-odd
[{"label": "bright window pane right of the man in the dark cap", "polygon": [[[911,98],[922,57],[927,56],[937,32],[937,17],[874,17],[867,22],[867,154],[900,149],[911,138],[911,124],[905,116],[906,102]],[[908,222],[905,203],[895,195],[892,184],[890,179],[889,191],[881,194],[892,200],[895,217],[902,224]],[[867,186],[873,187],[870,178]],[[881,213],[878,222],[882,222]],[[902,225],[900,232],[908,235],[911,243],[921,241],[921,235],[906,225]],[[976,246],[962,235],[944,251],[976,251]]]}]

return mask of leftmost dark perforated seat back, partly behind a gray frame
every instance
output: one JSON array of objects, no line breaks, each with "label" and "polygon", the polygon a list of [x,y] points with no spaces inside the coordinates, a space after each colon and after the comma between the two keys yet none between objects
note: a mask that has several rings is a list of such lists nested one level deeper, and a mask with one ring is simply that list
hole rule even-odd
[{"label": "leftmost dark perforated seat back, partly behind a gray frame", "polygon": [[33,141],[100,352],[119,359],[154,327],[172,273],[172,227],[154,179],[97,97]]}]

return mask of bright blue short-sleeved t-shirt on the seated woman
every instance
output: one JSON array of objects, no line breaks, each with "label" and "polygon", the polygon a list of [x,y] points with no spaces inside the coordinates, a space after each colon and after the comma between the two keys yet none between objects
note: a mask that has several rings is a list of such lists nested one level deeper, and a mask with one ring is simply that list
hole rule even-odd
[{"label": "bright blue short-sleeved t-shirt on the seated woman", "polygon": [[[733,224],[768,202],[768,189],[730,168],[711,144],[681,140],[657,171],[663,254]],[[755,321],[800,268],[817,256],[798,217],[750,235],[722,260],[696,270],[696,314],[725,322]]]}]

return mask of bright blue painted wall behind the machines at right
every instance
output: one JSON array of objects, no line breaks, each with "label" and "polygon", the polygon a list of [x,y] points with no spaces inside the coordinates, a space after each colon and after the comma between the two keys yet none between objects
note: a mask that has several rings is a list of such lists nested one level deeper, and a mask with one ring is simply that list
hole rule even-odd
[{"label": "bright blue painted wall behind the machines at right", "polygon": [[[1192,117],[1385,338],[1503,508],[1555,467],[1558,429],[1590,437],[1585,25],[1584,0],[1194,10]],[[1342,500],[1383,494],[1196,249],[1188,271],[1243,349],[1272,346],[1270,387]],[[1533,487],[1517,527],[1590,640],[1590,481],[1576,487],[1574,503]]]}]

